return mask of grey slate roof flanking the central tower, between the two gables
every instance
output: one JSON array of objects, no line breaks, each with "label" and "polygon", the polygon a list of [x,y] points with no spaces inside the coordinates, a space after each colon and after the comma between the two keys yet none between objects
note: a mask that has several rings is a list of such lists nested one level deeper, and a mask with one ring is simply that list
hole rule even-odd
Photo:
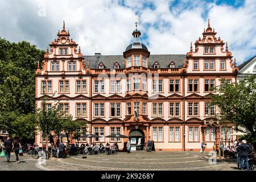
[{"label": "grey slate roof flanking the central tower, between the two gables", "polygon": [[[150,55],[148,57],[148,68],[153,68],[153,64],[156,61],[159,63],[159,68],[169,68],[171,61],[175,63],[175,68],[182,68],[185,57],[186,55]],[[119,68],[125,68],[125,58],[123,58],[123,55],[101,55],[100,53],[95,53],[94,56],[84,56],[84,60],[85,65],[89,61],[90,68],[92,69],[97,69],[98,64],[101,62],[104,64],[104,68],[114,68],[115,62],[120,65]]]}]

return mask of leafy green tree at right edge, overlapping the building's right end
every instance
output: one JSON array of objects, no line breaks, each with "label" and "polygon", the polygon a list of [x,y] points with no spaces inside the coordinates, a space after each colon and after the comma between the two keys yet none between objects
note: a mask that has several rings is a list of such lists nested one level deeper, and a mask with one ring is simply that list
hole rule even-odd
[{"label": "leafy green tree at right edge, overlapping the building's right end", "polygon": [[[234,123],[235,129],[245,129],[251,142],[256,142],[256,74],[233,84],[225,82],[224,88],[215,88],[212,104],[221,110],[220,120]],[[224,81],[224,80],[222,80]]]}]

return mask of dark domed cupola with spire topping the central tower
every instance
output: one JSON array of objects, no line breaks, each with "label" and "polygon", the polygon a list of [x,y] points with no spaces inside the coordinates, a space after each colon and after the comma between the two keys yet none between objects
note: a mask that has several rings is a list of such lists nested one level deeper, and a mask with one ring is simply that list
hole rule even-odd
[{"label": "dark domed cupola with spire topping the central tower", "polygon": [[142,44],[139,40],[139,37],[141,36],[141,32],[137,29],[137,25],[138,25],[138,16],[135,16],[134,18],[135,20],[135,30],[133,31],[133,38],[134,41],[132,44],[130,44],[129,46],[126,47],[125,52],[123,52],[123,57],[127,57],[126,55],[131,53],[131,52],[137,52],[137,51],[143,51],[146,53],[147,57],[150,56],[150,52],[147,50],[147,47]]}]

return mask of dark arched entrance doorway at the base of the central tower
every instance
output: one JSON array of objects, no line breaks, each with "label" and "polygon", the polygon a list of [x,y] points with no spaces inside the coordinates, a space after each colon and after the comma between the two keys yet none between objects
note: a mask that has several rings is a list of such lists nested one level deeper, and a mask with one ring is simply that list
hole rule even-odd
[{"label": "dark arched entrance doorway at the base of the central tower", "polygon": [[143,150],[145,145],[144,132],[140,129],[130,131],[129,140],[131,142],[131,150]]}]

